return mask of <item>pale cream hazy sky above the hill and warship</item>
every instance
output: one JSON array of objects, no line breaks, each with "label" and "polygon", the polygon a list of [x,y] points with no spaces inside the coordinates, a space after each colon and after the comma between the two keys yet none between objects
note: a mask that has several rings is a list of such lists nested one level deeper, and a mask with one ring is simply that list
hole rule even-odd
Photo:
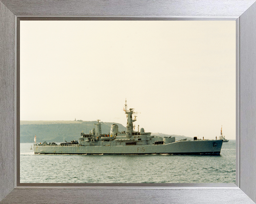
[{"label": "pale cream hazy sky above the hill and warship", "polygon": [[235,21],[21,21],[20,120],[235,139]]}]

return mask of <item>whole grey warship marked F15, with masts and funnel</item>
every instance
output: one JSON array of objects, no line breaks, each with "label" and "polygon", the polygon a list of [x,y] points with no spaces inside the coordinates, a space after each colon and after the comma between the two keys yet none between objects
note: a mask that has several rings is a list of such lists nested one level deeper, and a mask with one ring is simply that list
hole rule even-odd
[{"label": "whole grey warship marked F15, with masts and funnel", "polygon": [[[127,102],[127,101],[126,101]],[[220,155],[223,140],[179,140],[175,137],[159,137],[145,132],[143,128],[134,131],[136,112],[127,109],[127,131],[118,131],[113,124],[109,134],[102,134],[100,120],[89,134],[81,132],[78,141],[60,143],[34,143],[35,154],[210,154]],[[133,117],[134,115],[134,117]]]}]

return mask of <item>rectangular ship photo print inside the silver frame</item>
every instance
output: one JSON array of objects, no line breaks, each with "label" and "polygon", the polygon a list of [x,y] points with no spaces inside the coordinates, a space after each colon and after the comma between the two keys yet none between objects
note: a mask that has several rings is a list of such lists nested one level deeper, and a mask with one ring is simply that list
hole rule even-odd
[{"label": "rectangular ship photo print inside the silver frame", "polygon": [[235,21],[20,21],[20,183],[235,183]]}]

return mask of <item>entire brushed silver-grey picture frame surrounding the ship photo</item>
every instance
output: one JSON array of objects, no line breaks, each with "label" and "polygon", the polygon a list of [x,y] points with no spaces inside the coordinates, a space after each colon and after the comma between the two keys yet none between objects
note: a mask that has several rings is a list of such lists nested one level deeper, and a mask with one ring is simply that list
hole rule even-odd
[{"label": "entire brushed silver-grey picture frame surrounding the ship photo", "polygon": [[[256,202],[255,1],[0,0],[0,204]],[[92,20],[235,20],[236,184],[21,185],[16,178],[19,164],[16,133],[20,120],[16,115],[19,107],[16,26],[20,19],[39,16],[46,20],[62,20],[65,16],[73,20],[81,16]]]}]

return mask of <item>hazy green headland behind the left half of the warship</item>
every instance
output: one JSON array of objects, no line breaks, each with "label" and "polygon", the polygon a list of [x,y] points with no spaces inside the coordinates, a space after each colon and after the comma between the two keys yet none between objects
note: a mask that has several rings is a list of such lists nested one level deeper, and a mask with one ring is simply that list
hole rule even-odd
[{"label": "hazy green headland behind the left half of the warship", "polygon": [[[64,142],[78,140],[81,132],[89,134],[95,128],[97,121],[20,121],[20,143],[34,142]],[[110,127],[115,123],[101,122],[102,133],[109,133]],[[119,131],[125,131],[126,127],[118,124]]]}]

